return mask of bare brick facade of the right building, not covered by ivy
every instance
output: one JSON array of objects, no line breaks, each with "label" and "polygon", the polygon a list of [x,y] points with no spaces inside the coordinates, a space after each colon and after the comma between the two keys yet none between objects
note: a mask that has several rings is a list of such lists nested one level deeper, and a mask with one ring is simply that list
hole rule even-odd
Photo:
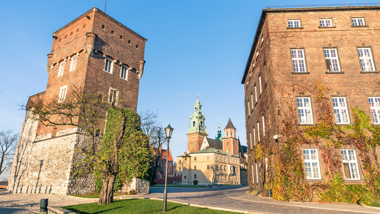
[{"label": "bare brick facade of the right building, not covered by ivy", "polygon": [[[329,88],[325,93],[329,99],[334,96],[346,98],[351,123],[353,121],[351,107],[358,106],[371,117],[368,97],[380,96],[378,84],[375,82],[375,79],[380,77],[379,9],[379,6],[352,6],[263,10],[241,82],[245,89],[248,152],[252,154],[248,160],[248,180],[251,187],[262,189],[266,170],[275,167],[268,166],[270,161],[267,160],[272,159],[273,154],[255,160],[255,145],[261,142],[265,142],[263,144],[271,142],[275,145],[273,137],[280,134],[283,129],[280,113],[291,114],[289,108],[297,110],[297,97],[310,97],[313,124],[309,125],[315,125],[320,121],[317,115],[319,106],[313,94],[318,81]],[[364,17],[365,25],[352,26],[351,18],[355,17]],[[320,27],[321,18],[331,19],[332,26]],[[300,19],[300,26],[288,27],[288,20],[292,19]],[[374,71],[361,71],[358,56],[360,47],[370,48]],[[326,69],[324,54],[326,48],[336,48],[339,72],[330,72]],[[293,72],[292,49],[304,50],[306,72]],[[330,105],[332,106],[332,101]],[[332,108],[331,112],[334,117]],[[296,116],[298,118],[298,114]],[[298,121],[299,129],[304,126]],[[304,145],[302,148],[310,148],[310,145]],[[299,148],[300,152],[302,148]],[[340,149],[342,148],[336,151],[340,153]],[[307,181],[324,182],[323,172],[326,170],[326,164],[320,151],[318,157],[321,179],[306,179]],[[342,174],[344,175],[343,164]],[[359,180],[345,180],[345,182],[363,183],[364,176],[361,175]]]}]

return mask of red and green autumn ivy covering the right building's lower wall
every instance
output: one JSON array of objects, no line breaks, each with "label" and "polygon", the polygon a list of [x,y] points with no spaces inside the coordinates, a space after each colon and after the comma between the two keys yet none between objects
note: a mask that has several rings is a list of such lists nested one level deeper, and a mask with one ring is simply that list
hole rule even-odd
[{"label": "red and green autumn ivy covering the right building's lower wall", "polygon": [[[272,135],[266,136],[253,148],[252,160],[260,161],[264,172],[261,173],[261,192],[266,195],[266,190],[271,189],[272,197],[282,201],[365,203],[379,200],[380,127],[372,126],[369,115],[358,106],[350,106],[350,125],[336,125],[331,96],[326,95],[331,94],[329,88],[320,81],[314,84],[309,92],[315,103],[316,125],[299,126],[295,102],[284,99],[284,105],[277,105],[281,123],[276,134],[282,136],[279,142],[270,139]],[[318,151],[321,180],[305,177],[302,149],[307,148]],[[344,180],[340,149],[356,150],[361,180]]]}]

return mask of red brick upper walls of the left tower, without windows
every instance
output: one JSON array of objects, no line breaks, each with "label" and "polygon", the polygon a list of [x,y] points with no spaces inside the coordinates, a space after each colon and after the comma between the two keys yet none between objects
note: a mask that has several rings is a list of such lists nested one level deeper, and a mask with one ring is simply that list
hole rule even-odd
[{"label": "red brick upper walls of the left tower, without windows", "polygon": [[[103,29],[104,28],[104,29]],[[112,35],[113,33],[113,35]],[[44,100],[58,99],[60,88],[67,85],[67,96],[74,87],[84,91],[95,91],[107,101],[109,88],[124,89],[119,95],[119,106],[136,111],[139,78],[142,75],[146,39],[112,19],[107,14],[92,8],[54,34],[52,51],[48,54],[46,91]],[[88,48],[92,45],[92,49]],[[71,58],[76,58],[76,68],[70,70]],[[112,62],[112,73],[106,72],[105,57]],[[60,65],[65,63],[63,74]],[[130,68],[127,80],[120,78],[122,65]],[[36,94],[31,97],[34,99]],[[70,127],[45,127],[39,124],[37,136]],[[100,130],[104,123],[99,124]]]}]

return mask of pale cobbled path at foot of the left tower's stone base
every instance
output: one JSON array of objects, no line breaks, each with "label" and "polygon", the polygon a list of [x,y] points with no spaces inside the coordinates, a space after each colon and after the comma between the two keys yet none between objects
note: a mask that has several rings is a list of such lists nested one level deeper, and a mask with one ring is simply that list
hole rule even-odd
[{"label": "pale cobbled path at foot of the left tower's stone base", "polygon": [[68,206],[75,204],[94,203],[94,201],[68,198],[51,194],[8,193],[0,190],[1,214],[35,214],[40,212],[40,200],[48,198],[49,206]]}]

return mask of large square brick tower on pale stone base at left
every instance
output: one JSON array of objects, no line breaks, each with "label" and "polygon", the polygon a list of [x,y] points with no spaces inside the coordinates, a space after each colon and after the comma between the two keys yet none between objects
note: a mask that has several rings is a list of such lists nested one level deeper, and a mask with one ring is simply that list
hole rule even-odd
[{"label": "large square brick tower on pale stone base at left", "polygon": [[[54,32],[47,54],[46,91],[29,101],[64,101],[77,88],[105,102],[137,109],[146,39],[96,7]],[[125,92],[119,94],[119,90]],[[28,102],[29,102],[28,101]],[[28,115],[28,112],[27,112]],[[78,121],[76,121],[78,123]],[[99,129],[104,130],[104,121]],[[44,126],[25,117],[9,176],[8,191],[58,195],[94,192],[93,175],[73,177],[83,135],[73,126]]]}]

